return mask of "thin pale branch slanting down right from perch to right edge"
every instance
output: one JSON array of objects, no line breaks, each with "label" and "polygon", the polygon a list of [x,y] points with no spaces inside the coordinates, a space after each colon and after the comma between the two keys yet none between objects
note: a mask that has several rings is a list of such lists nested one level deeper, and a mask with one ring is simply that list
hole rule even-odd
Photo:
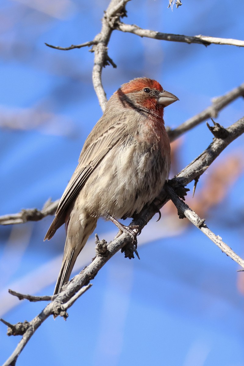
[{"label": "thin pale branch slanting down right from perch to right edge", "polygon": [[174,205],[176,206],[178,212],[182,212],[184,216],[187,217],[187,219],[191,221],[191,223],[194,224],[200,231],[202,231],[203,234],[205,234],[210,240],[212,240],[212,242],[214,242],[214,244],[216,244],[223,253],[228,255],[228,257],[232,258],[237,264],[244,268],[244,260],[240,258],[239,255],[237,255],[226,243],[224,243],[219,235],[215,235],[207,227],[207,225],[204,224],[204,219],[201,220],[200,217],[185,204],[185,202],[181,201],[181,199],[177,196],[172,187],[166,184],[165,190]]}]

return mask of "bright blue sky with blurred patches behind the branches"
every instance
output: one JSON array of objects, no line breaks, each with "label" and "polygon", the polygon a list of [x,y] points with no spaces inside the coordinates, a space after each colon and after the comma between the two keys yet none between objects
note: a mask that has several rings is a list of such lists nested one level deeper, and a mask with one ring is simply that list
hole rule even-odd
[{"label": "bright blue sky with blurred patches behind the branches", "polygon": [[[69,46],[92,40],[107,5],[83,0],[1,2],[1,215],[41,209],[49,197],[55,200],[63,193],[102,112],[91,80],[93,54],[86,48],[57,51],[44,42]],[[167,6],[166,0],[130,1],[124,22],[165,33],[244,39],[242,2],[183,1],[173,11]],[[110,97],[134,77],[157,79],[180,99],[165,110],[166,125],[176,127],[208,107],[213,97],[243,83],[243,52],[234,46],[206,48],[114,31],[109,56],[117,68],[106,67],[102,81]],[[227,127],[242,116],[239,98],[216,122]],[[178,170],[211,141],[204,123],[185,134],[177,151]],[[218,164],[226,161],[227,167],[230,156],[239,162],[239,171],[224,200],[207,210],[206,222],[243,257],[243,137],[200,179],[195,199]],[[194,202],[191,193],[187,202]],[[178,220],[175,211],[166,208],[162,216],[138,238],[140,261],[117,253],[68,311],[66,322],[49,318],[37,330],[17,365],[243,365],[243,274],[198,229]],[[65,232],[60,228],[51,241],[43,242],[51,220],[0,227],[0,309],[9,322],[31,320],[44,304],[17,302],[8,288],[53,292]],[[103,220],[95,232],[107,240],[116,234],[112,223]],[[86,248],[76,270],[93,257],[94,236]],[[19,341],[5,333],[1,324],[0,362]]]}]

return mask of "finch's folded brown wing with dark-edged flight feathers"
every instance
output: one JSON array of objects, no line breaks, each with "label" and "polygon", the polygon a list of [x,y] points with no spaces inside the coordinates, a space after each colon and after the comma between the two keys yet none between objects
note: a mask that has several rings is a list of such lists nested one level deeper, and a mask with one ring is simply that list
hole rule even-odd
[{"label": "finch's folded brown wing with dark-edged flight feathers", "polygon": [[68,206],[82,189],[91,173],[101,163],[109,150],[127,135],[124,123],[125,118],[126,115],[123,117],[120,116],[115,124],[112,126],[110,125],[109,127],[101,124],[100,120],[87,137],[82,152],[80,153],[79,164],[60,199],[55,219],[53,220],[45,239],[52,238],[55,231],[64,224]]}]

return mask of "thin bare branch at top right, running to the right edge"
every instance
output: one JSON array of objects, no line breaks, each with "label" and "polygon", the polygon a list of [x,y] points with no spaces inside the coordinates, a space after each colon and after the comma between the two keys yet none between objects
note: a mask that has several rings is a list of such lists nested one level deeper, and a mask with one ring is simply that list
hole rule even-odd
[{"label": "thin bare branch at top right, running to the right edge", "polygon": [[241,40],[202,36],[201,34],[199,34],[199,36],[184,36],[181,34],[161,33],[150,29],[142,29],[135,24],[125,24],[122,22],[116,23],[116,29],[122,32],[133,33],[140,37],[154,38],[155,40],[186,42],[189,44],[199,43],[203,44],[204,46],[209,46],[210,44],[218,44],[244,47],[244,41]]}]

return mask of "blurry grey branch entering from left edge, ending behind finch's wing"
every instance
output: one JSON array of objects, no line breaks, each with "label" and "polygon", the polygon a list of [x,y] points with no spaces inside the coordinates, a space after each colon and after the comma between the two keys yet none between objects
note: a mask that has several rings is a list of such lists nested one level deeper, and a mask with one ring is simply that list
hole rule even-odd
[{"label": "blurry grey branch entering from left edge, ending behind finch's wing", "polygon": [[24,209],[19,213],[0,216],[0,225],[23,224],[27,221],[39,221],[48,215],[54,215],[58,204],[59,199],[54,202],[48,200],[41,211],[36,208]]}]

